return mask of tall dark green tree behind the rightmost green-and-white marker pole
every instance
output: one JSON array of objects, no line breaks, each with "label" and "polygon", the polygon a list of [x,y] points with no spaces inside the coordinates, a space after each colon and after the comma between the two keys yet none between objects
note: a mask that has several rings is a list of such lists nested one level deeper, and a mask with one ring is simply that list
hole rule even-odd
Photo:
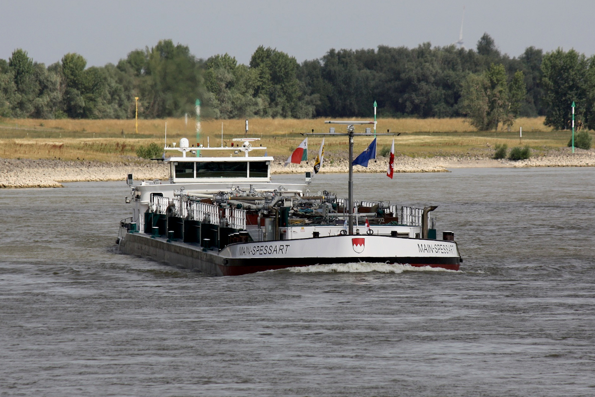
[{"label": "tall dark green tree behind the rightmost green-and-white marker pole", "polygon": [[587,104],[589,62],[574,49],[564,52],[558,48],[548,52],[541,62],[543,73],[543,104],[546,126],[567,130],[572,124],[571,104],[575,102],[575,117],[584,120]]}]

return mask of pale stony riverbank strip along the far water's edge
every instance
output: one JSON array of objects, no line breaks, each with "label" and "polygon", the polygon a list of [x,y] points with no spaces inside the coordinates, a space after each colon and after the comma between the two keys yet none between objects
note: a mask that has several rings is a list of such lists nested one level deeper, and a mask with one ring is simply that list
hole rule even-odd
[{"label": "pale stony riverbank strip along the far water's edge", "polygon": [[[296,174],[311,171],[314,161],[306,164],[290,164],[284,167],[284,159],[275,158],[271,167],[273,174]],[[387,158],[370,161],[368,168],[355,166],[356,173],[386,173]],[[321,173],[347,173],[347,160],[325,158]],[[461,157],[407,157],[394,159],[395,173],[447,172],[451,168],[496,168],[496,167],[595,167],[595,149],[588,151],[569,148],[550,150],[546,154],[534,154],[528,160],[493,160],[478,155]],[[156,161],[130,158],[120,162],[60,161],[0,159],[0,187],[61,187],[64,182],[98,182],[126,180],[132,173],[135,180],[168,178],[167,165]]]}]

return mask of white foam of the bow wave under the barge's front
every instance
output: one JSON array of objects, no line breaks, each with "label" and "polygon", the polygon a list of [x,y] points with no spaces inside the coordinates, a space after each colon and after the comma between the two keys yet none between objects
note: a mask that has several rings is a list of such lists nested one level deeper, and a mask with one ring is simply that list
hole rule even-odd
[{"label": "white foam of the bow wave under the barge's front", "polygon": [[[370,273],[377,271],[378,273],[403,273],[403,271],[455,271],[447,270],[438,267],[415,267],[411,265],[401,264],[387,264],[387,263],[336,263],[326,265],[309,265],[303,267],[290,267],[280,270],[289,270],[292,273]],[[277,271],[277,270],[275,270]]]}]

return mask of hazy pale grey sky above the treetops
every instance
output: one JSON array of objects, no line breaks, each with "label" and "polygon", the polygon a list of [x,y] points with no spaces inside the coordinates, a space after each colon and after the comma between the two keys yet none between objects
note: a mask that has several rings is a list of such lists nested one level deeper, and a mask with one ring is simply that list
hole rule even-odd
[{"label": "hazy pale grey sky above the treetops", "polygon": [[49,65],[77,52],[102,66],[172,39],[198,58],[227,52],[248,64],[264,45],[302,62],[331,48],[449,45],[464,6],[466,48],[487,32],[511,57],[532,45],[595,54],[595,0],[2,0],[0,58],[23,48]]}]

